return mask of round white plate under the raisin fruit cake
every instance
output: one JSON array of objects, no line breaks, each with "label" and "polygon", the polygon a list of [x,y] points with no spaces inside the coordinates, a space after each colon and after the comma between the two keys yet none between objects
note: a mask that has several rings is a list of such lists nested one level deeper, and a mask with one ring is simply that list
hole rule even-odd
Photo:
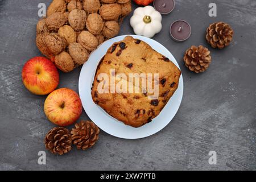
[{"label": "round white plate under the raisin fruit cake", "polygon": [[[104,130],[106,133],[119,138],[138,139],[148,137],[157,133],[158,131],[166,127],[168,123],[171,122],[172,118],[174,118],[177,110],[179,109],[183,96],[183,77],[182,75],[180,76],[179,88],[177,88],[174,96],[171,97],[170,101],[168,101],[158,117],[152,119],[152,122],[142,127],[134,128],[131,126],[127,126],[110,116],[103,109],[101,109],[100,106],[94,104],[91,96],[91,88],[99,61],[106,54],[106,51],[110,46],[112,46],[114,42],[119,42],[123,40],[125,36],[127,35],[118,36],[104,42],[90,55],[89,60],[83,65],[81,69],[79,77],[79,94],[85,112],[87,113],[89,118],[92,119],[92,121],[96,123],[98,127],[100,127],[101,130]],[[144,36],[130,36],[133,36],[133,38],[140,39],[148,43],[153,49],[168,57],[177,67],[179,67],[174,56],[172,56],[172,53],[169,52],[167,48],[162,46],[162,44]]]}]

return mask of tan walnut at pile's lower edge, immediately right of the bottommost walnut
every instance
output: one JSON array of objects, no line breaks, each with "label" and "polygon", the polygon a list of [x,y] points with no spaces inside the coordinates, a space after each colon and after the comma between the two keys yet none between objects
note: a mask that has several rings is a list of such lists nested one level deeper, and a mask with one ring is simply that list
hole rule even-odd
[{"label": "tan walnut at pile's lower edge, immediately right of the bottommost walnut", "polygon": [[71,43],[68,52],[76,64],[84,64],[88,60],[88,51],[79,43]]}]

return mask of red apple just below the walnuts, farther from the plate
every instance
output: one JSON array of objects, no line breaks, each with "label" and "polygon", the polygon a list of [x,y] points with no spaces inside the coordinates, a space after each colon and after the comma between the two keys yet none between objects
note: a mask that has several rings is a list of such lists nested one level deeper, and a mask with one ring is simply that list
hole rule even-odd
[{"label": "red apple just below the walnuts, farther from the plate", "polygon": [[46,95],[59,84],[59,72],[46,57],[34,57],[22,69],[22,81],[30,92]]}]

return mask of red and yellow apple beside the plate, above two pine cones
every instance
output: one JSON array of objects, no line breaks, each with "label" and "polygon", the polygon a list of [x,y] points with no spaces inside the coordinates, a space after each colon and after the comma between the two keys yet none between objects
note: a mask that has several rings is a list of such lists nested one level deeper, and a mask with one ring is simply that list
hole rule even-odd
[{"label": "red and yellow apple beside the plate, above two pine cones", "polygon": [[55,125],[72,125],[82,113],[82,102],[75,91],[68,88],[57,89],[46,98],[44,113]]}]

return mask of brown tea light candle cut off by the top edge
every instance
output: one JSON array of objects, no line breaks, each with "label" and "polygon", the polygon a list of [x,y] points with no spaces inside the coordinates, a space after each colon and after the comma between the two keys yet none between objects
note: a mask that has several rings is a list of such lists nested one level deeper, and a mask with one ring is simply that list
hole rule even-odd
[{"label": "brown tea light candle cut off by the top edge", "polygon": [[154,8],[160,14],[169,14],[174,10],[175,1],[174,0],[155,0]]}]

